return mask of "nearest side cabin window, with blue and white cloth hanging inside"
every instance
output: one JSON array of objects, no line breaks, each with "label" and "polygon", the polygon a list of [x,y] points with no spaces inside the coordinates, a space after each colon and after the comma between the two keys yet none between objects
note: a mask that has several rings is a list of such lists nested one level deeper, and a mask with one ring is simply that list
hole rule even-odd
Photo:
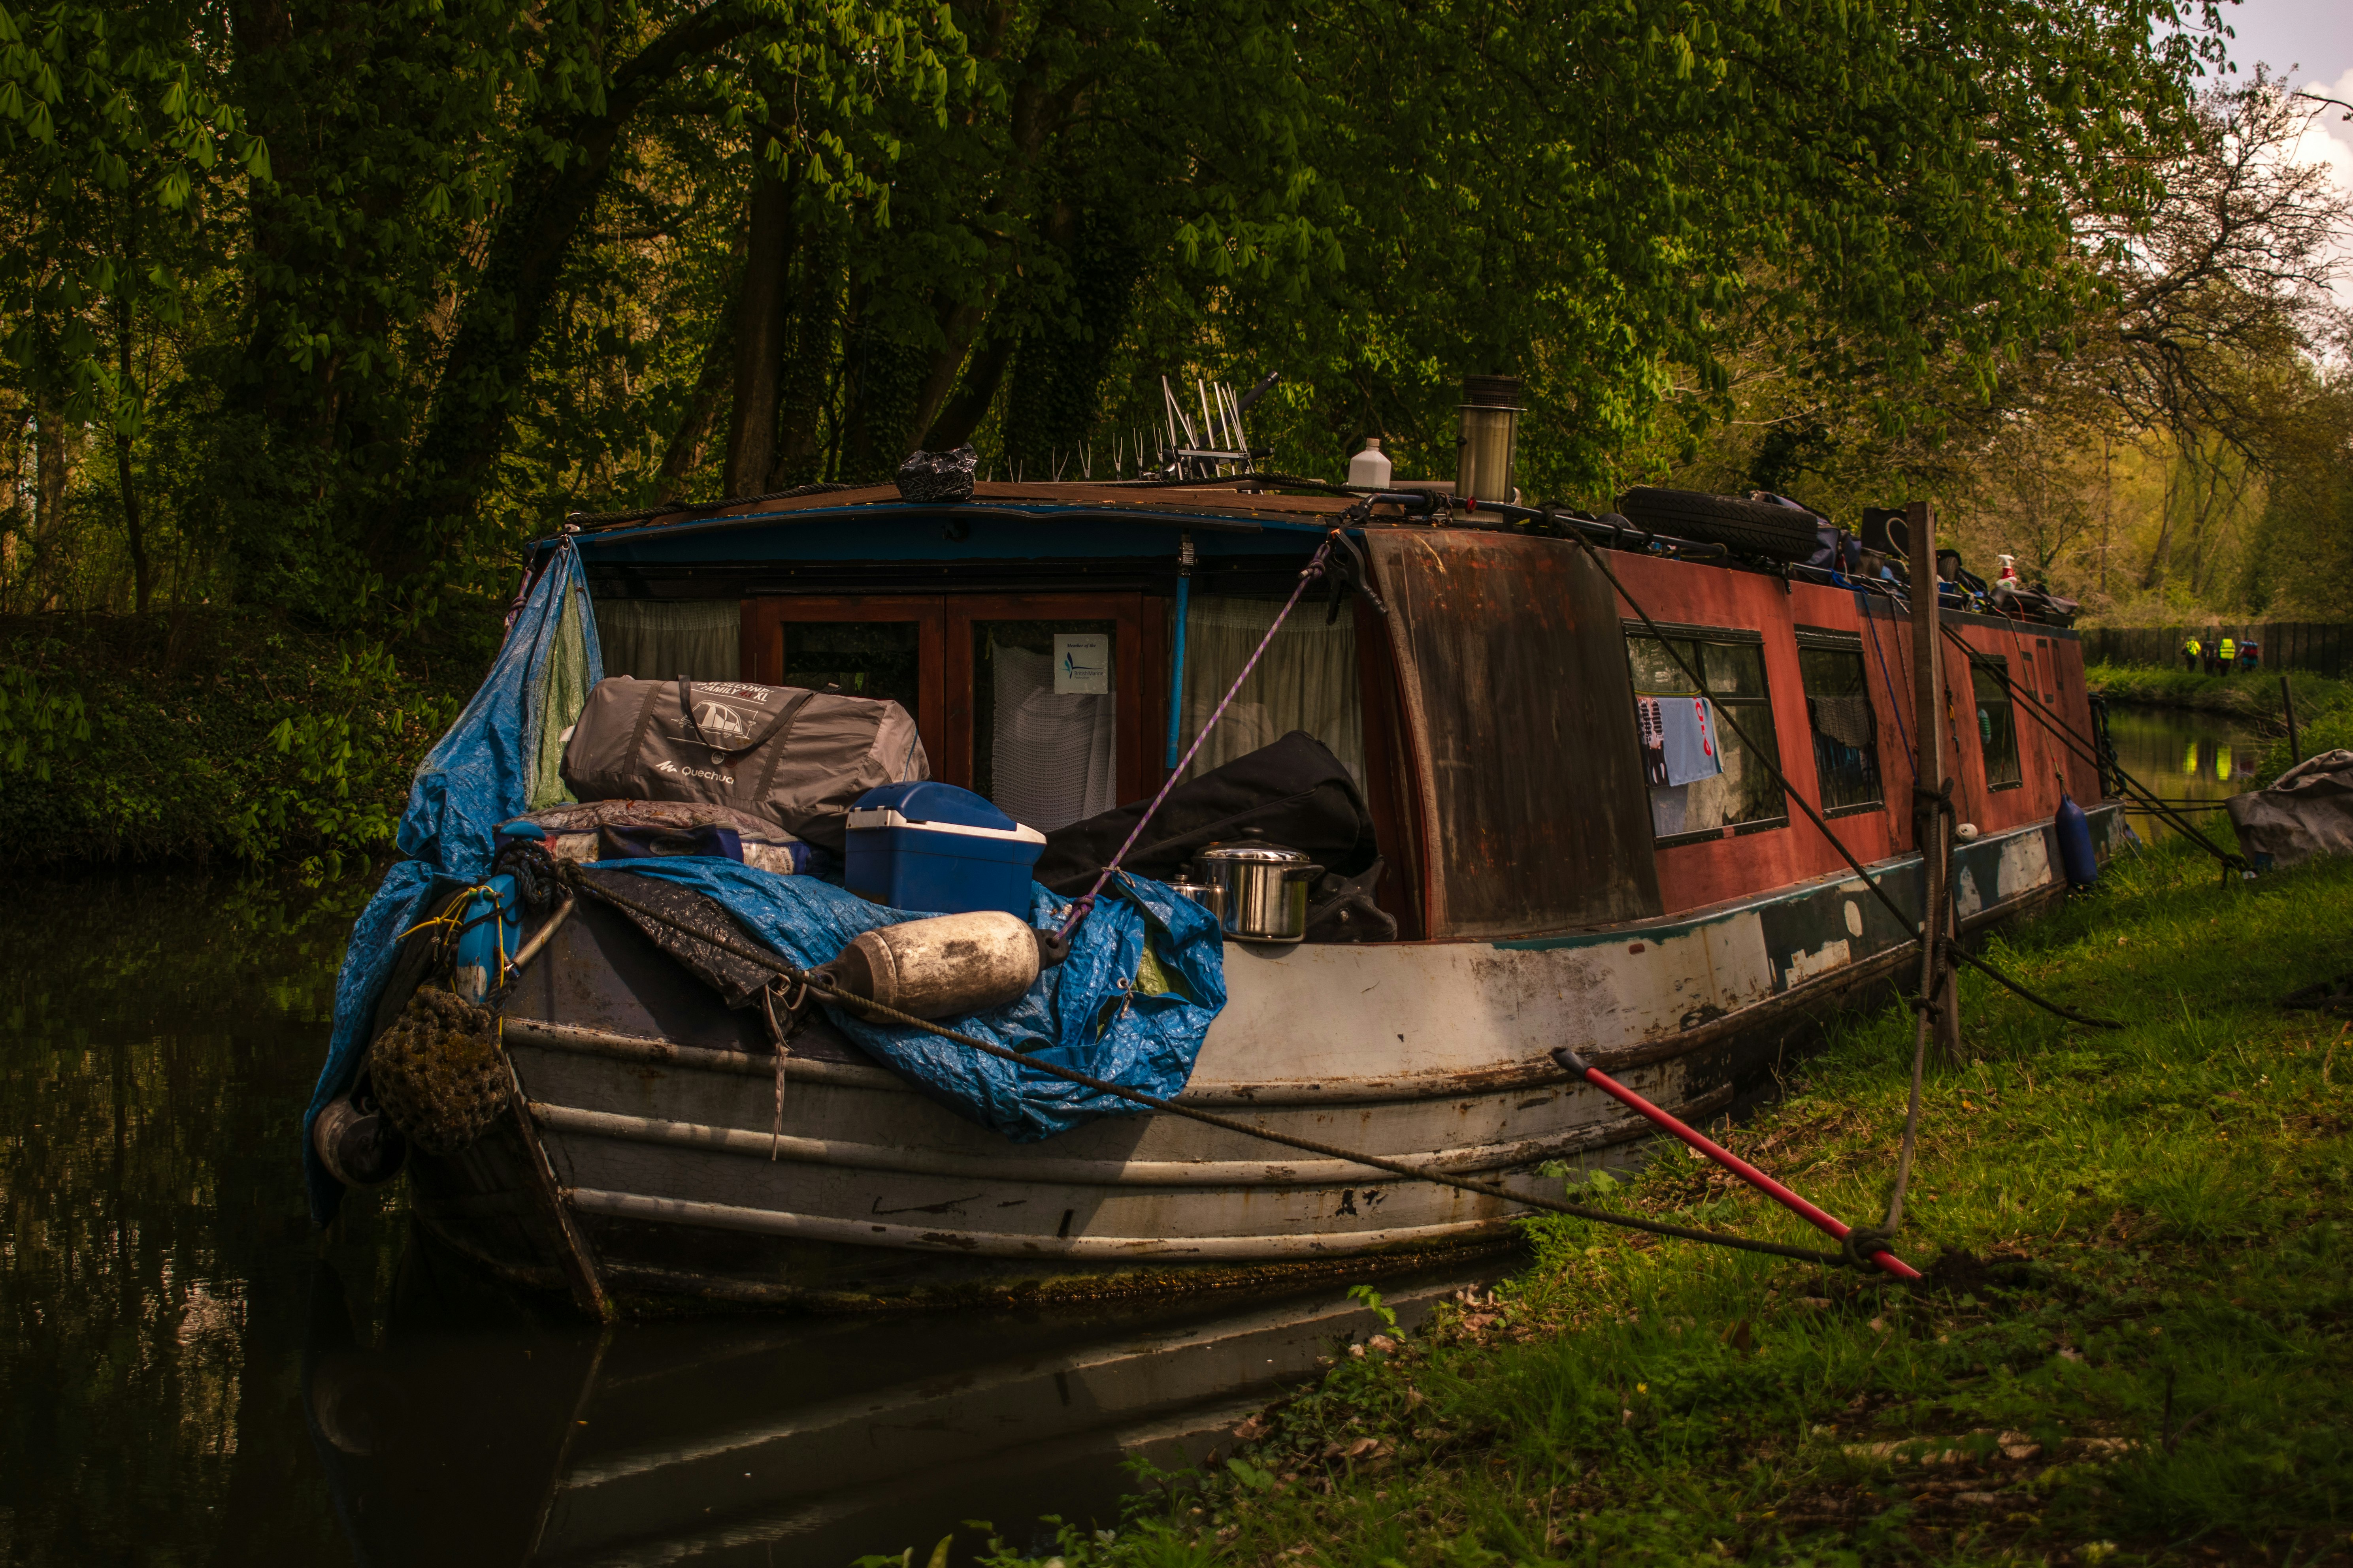
[{"label": "nearest side cabin window, with blue and white cloth hanging inside", "polygon": [[[1668,646],[1706,679],[1704,691]],[[1628,632],[1626,663],[1657,839],[1692,842],[1720,837],[1727,827],[1758,832],[1786,825],[1788,802],[1765,766],[1781,766],[1765,686],[1765,639],[1715,628],[1675,628],[1664,642]],[[1720,722],[1725,715],[1748,741]],[[1751,752],[1751,743],[1762,757]]]}]

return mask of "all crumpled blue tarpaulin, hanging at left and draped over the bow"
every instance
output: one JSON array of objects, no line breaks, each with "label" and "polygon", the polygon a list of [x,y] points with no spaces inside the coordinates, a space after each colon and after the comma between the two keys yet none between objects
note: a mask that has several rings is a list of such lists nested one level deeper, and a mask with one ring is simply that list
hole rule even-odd
[{"label": "all crumpled blue tarpaulin, hanging at left and draped over the bow", "polygon": [[[598,679],[602,658],[588,585],[576,550],[565,543],[508,628],[489,677],[416,769],[400,818],[405,858],[384,875],[351,931],[334,985],[327,1065],[304,1117],[304,1173],[320,1225],[334,1218],[344,1190],[311,1147],[311,1121],[348,1093],[360,1072],[400,936],[426,919],[438,898],[489,872],[499,823],[551,804],[558,788],[555,736],[579,717],[581,698]],[[774,877],[736,860],[624,865],[708,893],[802,966],[831,961],[861,931],[915,919],[814,877]],[[1224,936],[1207,910],[1158,882],[1122,875],[1111,891],[1118,896],[1096,903],[1061,966],[1045,971],[1019,1001],[953,1020],[953,1027],[1125,1088],[1174,1095],[1193,1072],[1209,1020],[1226,1004]],[[1068,907],[1035,884],[1031,900],[1031,919],[1040,926]],[[1144,994],[1139,976],[1158,978],[1165,990]],[[1014,1140],[1049,1138],[1132,1110],[920,1030],[882,1027],[849,1013],[833,1013],[833,1023],[934,1098]]]}]

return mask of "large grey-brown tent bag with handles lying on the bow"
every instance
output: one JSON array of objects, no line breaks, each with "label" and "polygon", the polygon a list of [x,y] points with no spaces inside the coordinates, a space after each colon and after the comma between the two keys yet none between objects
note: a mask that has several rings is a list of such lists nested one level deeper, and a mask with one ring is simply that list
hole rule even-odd
[{"label": "large grey-brown tent bag with handles lying on the bow", "polygon": [[840,853],[859,795],[929,778],[932,766],[899,703],[609,675],[572,726],[562,776],[579,799],[713,802]]}]

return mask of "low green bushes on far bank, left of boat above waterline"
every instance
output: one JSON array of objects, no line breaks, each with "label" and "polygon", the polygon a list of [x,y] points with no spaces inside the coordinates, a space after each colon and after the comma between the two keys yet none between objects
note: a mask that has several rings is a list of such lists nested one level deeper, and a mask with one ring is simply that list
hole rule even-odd
[{"label": "low green bushes on far bank, left of boat above waterline", "polygon": [[487,611],[400,649],[261,611],[0,621],[0,865],[355,870],[391,853],[496,635]]}]

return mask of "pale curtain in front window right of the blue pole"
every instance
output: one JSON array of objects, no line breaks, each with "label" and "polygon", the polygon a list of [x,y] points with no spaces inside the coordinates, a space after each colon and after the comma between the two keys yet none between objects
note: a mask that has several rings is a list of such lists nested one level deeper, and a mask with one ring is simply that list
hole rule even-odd
[{"label": "pale curtain in front window right of the blue pole", "polygon": [[[1184,729],[1179,750],[1193,743],[1217,712],[1226,686],[1242,672],[1252,649],[1275,623],[1282,599],[1195,597],[1184,623]],[[1358,788],[1365,785],[1365,710],[1355,679],[1355,616],[1341,609],[1325,625],[1320,597],[1306,597],[1275,632],[1266,658],[1249,672],[1209,741],[1193,757],[1186,778],[1245,757],[1261,745],[1304,729],[1341,759]]]}]

